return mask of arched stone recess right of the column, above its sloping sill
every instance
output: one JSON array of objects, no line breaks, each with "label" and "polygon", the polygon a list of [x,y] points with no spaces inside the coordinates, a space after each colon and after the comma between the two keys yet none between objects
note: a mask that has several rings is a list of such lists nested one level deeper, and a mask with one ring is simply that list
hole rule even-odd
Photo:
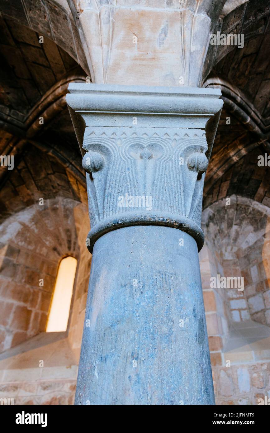
[{"label": "arched stone recess right of the column, above its sloping sill", "polygon": [[270,325],[270,211],[244,197],[228,199],[207,208],[204,221],[217,273],[243,277],[244,290],[225,290],[231,320]]}]

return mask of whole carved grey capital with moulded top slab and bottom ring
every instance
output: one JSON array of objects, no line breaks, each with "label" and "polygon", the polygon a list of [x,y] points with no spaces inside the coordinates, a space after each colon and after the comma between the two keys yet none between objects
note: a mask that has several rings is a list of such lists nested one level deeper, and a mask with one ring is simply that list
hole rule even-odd
[{"label": "whole carved grey capital with moulded top slab and bottom ring", "polygon": [[71,84],[67,104],[87,172],[93,251],[110,230],[181,229],[202,248],[202,189],[218,89]]}]

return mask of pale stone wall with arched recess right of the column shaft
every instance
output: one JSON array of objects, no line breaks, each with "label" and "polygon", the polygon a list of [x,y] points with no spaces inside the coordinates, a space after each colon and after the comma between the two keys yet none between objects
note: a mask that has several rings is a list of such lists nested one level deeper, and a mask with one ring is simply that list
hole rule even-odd
[{"label": "pale stone wall with arched recess right of the column shaft", "polygon": [[[231,196],[202,213],[202,288],[216,404],[270,397],[269,208]],[[211,288],[211,278],[244,277],[244,290]]]}]

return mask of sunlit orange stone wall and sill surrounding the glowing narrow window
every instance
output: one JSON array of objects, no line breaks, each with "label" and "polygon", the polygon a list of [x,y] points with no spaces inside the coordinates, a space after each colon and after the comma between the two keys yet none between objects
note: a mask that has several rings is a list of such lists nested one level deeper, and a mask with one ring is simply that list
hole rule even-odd
[{"label": "sunlit orange stone wall and sill surrounding the glowing narrow window", "polygon": [[[75,188],[76,181],[67,184]],[[88,209],[83,194],[84,202],[38,195],[45,197],[43,206],[32,204],[1,225],[0,398],[14,398],[14,404],[73,404],[91,263],[85,246]],[[78,260],[68,330],[44,333],[65,255]]]}]

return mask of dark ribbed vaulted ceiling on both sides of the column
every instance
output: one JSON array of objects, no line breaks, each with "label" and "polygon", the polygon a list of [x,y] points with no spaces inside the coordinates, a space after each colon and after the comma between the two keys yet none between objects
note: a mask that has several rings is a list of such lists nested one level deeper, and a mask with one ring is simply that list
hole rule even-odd
[{"label": "dark ribbed vaulted ceiling on both sides of the column", "polygon": [[[85,82],[89,71],[69,3],[0,0],[0,146],[2,154],[34,146],[54,155],[84,183],[65,94],[69,82]],[[205,197],[218,184],[221,188],[245,155],[270,149],[269,17],[270,0],[227,0],[214,29],[243,34],[244,48],[209,45],[206,56],[201,84],[221,88],[225,104]]]}]

